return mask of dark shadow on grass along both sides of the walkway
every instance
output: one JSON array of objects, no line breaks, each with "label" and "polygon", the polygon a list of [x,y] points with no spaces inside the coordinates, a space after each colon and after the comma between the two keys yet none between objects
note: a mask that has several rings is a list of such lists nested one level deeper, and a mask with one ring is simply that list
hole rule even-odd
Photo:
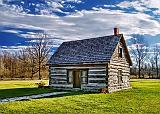
[{"label": "dark shadow on grass along both sides of the walkway", "polygon": [[[68,93],[64,93],[60,95],[52,95],[44,98],[75,96],[75,95],[95,93],[95,92],[83,92],[83,91],[54,90],[53,88],[13,88],[13,89],[0,89],[0,99],[38,95],[38,94],[50,93],[50,92],[68,92]],[[41,98],[36,98],[36,99],[41,99]]]}]

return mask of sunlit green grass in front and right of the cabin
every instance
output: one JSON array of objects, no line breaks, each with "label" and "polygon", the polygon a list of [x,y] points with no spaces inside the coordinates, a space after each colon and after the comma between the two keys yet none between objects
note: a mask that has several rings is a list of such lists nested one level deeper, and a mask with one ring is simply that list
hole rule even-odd
[{"label": "sunlit green grass in front and right of the cabin", "polygon": [[[0,114],[160,114],[160,80],[132,80],[133,89],[0,104]],[[1,94],[1,93],[0,93]]]}]

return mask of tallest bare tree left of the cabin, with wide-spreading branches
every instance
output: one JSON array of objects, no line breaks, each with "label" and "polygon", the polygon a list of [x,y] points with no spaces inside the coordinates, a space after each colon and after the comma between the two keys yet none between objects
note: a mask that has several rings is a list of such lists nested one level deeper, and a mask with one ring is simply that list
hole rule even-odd
[{"label": "tallest bare tree left of the cabin, with wide-spreading branches", "polygon": [[36,42],[32,42],[31,46],[27,48],[30,59],[33,65],[37,66],[39,79],[42,79],[41,68],[45,66],[48,60],[50,48],[48,46],[48,39],[45,33],[38,33]]}]

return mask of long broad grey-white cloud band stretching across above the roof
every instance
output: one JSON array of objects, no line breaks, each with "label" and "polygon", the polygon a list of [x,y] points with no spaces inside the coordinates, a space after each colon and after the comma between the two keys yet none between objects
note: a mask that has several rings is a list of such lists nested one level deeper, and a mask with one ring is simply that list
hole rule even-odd
[{"label": "long broad grey-white cloud band stretching across above the roof", "polygon": [[[134,4],[137,5],[134,5],[135,7],[141,7],[137,2]],[[126,36],[129,34],[160,34],[160,22],[143,12],[129,14],[122,10],[93,8],[91,11],[77,11],[65,17],[19,14],[10,10],[0,10],[0,15],[3,17],[0,18],[0,26],[45,30],[53,37],[62,38],[63,41],[111,35],[115,26],[119,26],[121,33]],[[32,35],[30,33],[21,34],[23,37],[34,38]],[[56,42],[63,42],[62,39],[57,39]]]}]

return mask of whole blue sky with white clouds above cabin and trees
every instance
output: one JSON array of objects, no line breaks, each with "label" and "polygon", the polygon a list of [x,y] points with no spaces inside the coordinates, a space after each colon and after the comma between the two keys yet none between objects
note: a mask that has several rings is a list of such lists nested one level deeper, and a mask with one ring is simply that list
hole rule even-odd
[{"label": "whole blue sky with white clouds above cabin and trees", "polygon": [[0,0],[0,50],[18,50],[45,31],[51,45],[112,35],[118,26],[160,45],[160,0]]}]

